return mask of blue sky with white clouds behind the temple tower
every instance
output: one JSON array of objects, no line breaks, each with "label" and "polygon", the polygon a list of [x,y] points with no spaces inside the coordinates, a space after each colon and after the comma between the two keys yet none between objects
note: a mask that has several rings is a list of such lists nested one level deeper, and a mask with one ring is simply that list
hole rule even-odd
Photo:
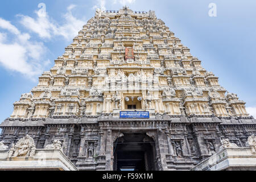
[{"label": "blue sky with white clouds behind the temple tower", "polygon": [[[216,5],[216,16],[209,16],[210,3]],[[154,10],[256,118],[255,0],[9,0],[0,5],[0,122],[53,67],[96,8],[119,10],[124,5]]]}]

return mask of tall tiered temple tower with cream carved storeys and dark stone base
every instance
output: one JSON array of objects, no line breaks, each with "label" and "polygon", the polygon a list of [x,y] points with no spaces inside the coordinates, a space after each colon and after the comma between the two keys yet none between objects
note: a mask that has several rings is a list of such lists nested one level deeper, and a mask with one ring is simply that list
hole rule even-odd
[{"label": "tall tiered temple tower with cream carved storeys and dark stone base", "polygon": [[[129,111],[129,112],[128,112]],[[7,146],[54,139],[80,170],[189,169],[229,138],[245,146],[256,121],[245,102],[154,11],[96,10],[0,126]]]}]

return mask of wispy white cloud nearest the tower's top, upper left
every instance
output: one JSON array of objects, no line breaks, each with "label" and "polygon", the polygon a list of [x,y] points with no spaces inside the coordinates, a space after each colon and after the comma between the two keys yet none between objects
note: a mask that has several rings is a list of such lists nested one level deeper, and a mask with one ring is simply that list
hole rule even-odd
[{"label": "wispy white cloud nearest the tower's top, upper left", "polygon": [[76,5],[67,7],[67,13],[63,15],[64,24],[62,25],[56,23],[47,13],[42,16],[40,10],[35,11],[36,18],[19,15],[21,17],[20,23],[22,23],[28,30],[38,34],[40,38],[50,39],[52,36],[63,36],[67,40],[72,40],[85,24],[83,20],[73,16],[72,10],[75,7]]}]

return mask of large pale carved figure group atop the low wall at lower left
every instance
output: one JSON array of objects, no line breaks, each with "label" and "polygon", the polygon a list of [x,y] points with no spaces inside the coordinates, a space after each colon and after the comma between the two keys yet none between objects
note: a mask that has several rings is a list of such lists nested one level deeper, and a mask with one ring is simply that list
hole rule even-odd
[{"label": "large pale carved figure group atop the low wall at lower left", "polygon": [[19,156],[30,156],[35,155],[35,142],[32,137],[26,135],[25,137],[19,139],[15,146],[11,146],[9,151],[9,157],[19,157]]}]

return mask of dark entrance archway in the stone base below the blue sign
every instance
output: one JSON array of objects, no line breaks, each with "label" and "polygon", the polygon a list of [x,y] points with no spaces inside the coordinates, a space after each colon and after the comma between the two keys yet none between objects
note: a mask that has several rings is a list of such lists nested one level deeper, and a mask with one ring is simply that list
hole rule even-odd
[{"label": "dark entrance archway in the stone base below the blue sign", "polygon": [[114,142],[114,171],[155,171],[155,142],[145,133],[123,133]]}]

